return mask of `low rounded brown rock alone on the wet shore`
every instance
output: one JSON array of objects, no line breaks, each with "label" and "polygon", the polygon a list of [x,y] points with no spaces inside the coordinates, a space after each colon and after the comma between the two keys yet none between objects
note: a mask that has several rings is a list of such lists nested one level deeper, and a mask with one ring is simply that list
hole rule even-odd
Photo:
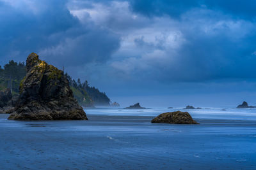
[{"label": "low rounded brown rock alone on the wet shore", "polygon": [[162,113],[152,119],[151,123],[198,124],[188,112],[182,111]]}]

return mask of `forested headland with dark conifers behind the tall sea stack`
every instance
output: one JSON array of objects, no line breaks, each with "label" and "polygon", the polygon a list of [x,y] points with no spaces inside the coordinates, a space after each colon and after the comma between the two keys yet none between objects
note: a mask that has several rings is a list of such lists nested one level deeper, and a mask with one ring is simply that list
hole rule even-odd
[{"label": "forested headland with dark conifers behind the tall sea stack", "polygon": [[[26,76],[26,64],[10,60],[3,67],[0,66],[0,90],[9,88],[13,95],[19,94],[20,81],[24,76]],[[110,99],[105,92],[91,87],[87,80],[81,83],[80,78],[74,80],[67,73],[65,76],[79,104],[86,107],[109,106]]]}]

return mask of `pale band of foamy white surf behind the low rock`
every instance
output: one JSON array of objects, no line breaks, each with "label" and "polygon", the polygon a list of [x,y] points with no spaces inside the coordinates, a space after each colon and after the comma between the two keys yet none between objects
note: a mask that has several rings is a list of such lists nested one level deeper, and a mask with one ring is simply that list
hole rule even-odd
[{"label": "pale band of foamy white surf behind the low rock", "polygon": [[87,115],[109,115],[109,116],[144,116],[156,117],[157,115],[169,111],[188,111],[193,118],[218,119],[218,120],[241,120],[255,121],[256,109],[236,109],[236,108],[202,108],[200,110],[184,110],[184,108],[152,108],[145,110],[127,110],[120,108],[100,108],[86,109]]}]

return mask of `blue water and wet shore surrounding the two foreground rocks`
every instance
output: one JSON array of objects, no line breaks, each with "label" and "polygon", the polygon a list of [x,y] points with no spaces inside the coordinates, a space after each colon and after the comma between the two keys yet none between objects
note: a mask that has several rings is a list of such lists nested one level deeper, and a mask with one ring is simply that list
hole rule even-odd
[{"label": "blue water and wet shore surrounding the two foreground rocks", "polygon": [[[150,123],[177,110],[200,125]],[[88,121],[0,115],[0,169],[256,169],[256,109],[85,111]]]}]

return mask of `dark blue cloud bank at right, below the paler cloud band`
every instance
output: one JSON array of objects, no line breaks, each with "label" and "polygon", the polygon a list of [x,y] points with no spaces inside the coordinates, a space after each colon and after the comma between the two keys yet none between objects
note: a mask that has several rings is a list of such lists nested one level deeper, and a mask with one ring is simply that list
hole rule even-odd
[{"label": "dark blue cloud bank at right, below the paler cloud band", "polygon": [[185,34],[185,37],[189,41],[178,50],[179,57],[168,69],[170,74],[163,76],[164,80],[256,78],[256,56],[252,53],[256,48],[256,34],[239,41],[228,38],[225,32],[214,37],[196,34]]}]

